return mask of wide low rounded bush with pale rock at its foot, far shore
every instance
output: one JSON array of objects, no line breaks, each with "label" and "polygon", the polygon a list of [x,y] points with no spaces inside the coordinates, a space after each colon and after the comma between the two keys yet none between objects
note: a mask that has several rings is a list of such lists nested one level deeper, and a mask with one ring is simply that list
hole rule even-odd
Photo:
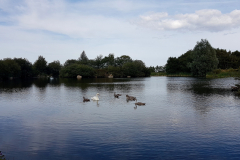
[{"label": "wide low rounded bush with pale rock at its foot, far shore", "polygon": [[60,77],[76,78],[77,75],[82,77],[94,77],[95,71],[92,67],[83,64],[72,64],[60,70]]}]

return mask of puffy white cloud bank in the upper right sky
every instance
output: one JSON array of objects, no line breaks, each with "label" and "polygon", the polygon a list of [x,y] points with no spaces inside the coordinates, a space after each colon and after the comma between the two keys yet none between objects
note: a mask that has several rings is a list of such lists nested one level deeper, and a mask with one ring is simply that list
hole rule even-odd
[{"label": "puffy white cloud bank in the upper right sky", "polygon": [[219,10],[204,9],[191,14],[168,15],[166,12],[141,15],[137,25],[155,30],[210,31],[231,30],[240,26],[240,10],[222,14]]}]

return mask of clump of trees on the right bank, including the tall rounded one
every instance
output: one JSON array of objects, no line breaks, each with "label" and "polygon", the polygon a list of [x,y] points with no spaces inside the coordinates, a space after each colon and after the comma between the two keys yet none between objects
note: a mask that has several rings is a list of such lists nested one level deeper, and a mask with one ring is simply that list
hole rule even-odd
[{"label": "clump of trees on the right bank, including the tall rounded one", "polygon": [[213,48],[205,39],[197,42],[193,50],[179,57],[169,57],[164,66],[167,74],[190,73],[193,76],[206,76],[214,69],[238,69],[240,52]]}]

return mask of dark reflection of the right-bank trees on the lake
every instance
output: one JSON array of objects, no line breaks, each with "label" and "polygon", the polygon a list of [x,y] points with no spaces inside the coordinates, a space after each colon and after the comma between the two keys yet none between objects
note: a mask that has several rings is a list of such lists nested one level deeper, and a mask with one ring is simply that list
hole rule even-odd
[{"label": "dark reflection of the right-bank trees on the lake", "polygon": [[[231,81],[232,82],[232,81]],[[168,80],[167,90],[171,100],[177,104],[189,105],[201,114],[207,113],[219,97],[232,95],[224,80],[203,78],[172,78]]]}]

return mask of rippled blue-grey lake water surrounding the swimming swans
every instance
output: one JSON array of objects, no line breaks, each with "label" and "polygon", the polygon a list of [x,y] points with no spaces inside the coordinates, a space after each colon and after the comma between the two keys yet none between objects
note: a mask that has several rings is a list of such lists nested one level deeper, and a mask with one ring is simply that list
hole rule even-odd
[{"label": "rippled blue-grey lake water surrounding the swimming swans", "polygon": [[[0,150],[9,160],[240,159],[240,98],[229,89],[236,83],[184,77],[1,82]],[[96,93],[98,103],[83,103]],[[126,94],[146,106],[136,108]]]}]

